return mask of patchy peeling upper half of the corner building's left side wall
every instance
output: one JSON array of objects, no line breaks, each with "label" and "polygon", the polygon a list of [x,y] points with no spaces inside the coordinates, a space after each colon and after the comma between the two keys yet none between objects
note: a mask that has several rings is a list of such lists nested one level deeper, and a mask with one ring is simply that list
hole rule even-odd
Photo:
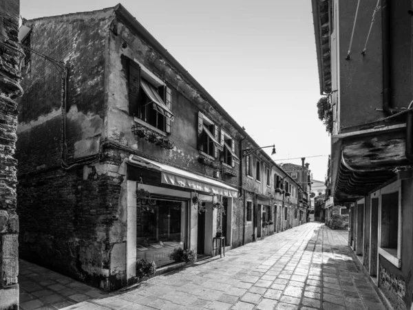
[{"label": "patchy peeling upper half of the corner building's left side wall", "polygon": [[24,163],[19,175],[60,167],[62,157],[70,164],[98,153],[105,137],[105,45],[112,14],[106,10],[24,21],[31,28],[30,47],[65,63],[67,99],[63,111],[63,69],[31,52],[19,101],[17,157]]}]

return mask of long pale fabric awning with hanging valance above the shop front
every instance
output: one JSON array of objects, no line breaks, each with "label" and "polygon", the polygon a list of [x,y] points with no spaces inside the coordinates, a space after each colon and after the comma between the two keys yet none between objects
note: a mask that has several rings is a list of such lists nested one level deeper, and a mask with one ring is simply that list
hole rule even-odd
[{"label": "long pale fabric awning with hanging valance above the shop front", "polygon": [[236,188],[228,186],[218,180],[209,179],[202,175],[195,175],[188,171],[160,164],[151,159],[143,158],[138,155],[130,155],[129,161],[131,164],[137,164],[145,168],[154,168],[160,170],[161,183],[180,186],[183,188],[191,188],[200,192],[210,192],[215,195],[223,195],[226,197],[237,197],[238,191]]}]

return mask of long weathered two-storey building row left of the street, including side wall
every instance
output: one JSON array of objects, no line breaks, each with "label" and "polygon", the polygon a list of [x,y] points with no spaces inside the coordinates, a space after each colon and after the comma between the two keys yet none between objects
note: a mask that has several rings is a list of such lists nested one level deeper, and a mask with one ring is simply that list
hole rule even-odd
[{"label": "long weathered two-storey building row left of the street, including side wall", "polygon": [[[122,5],[23,25],[23,258],[112,290],[138,259],[162,269],[177,247],[211,255],[218,234],[231,249],[305,222],[299,185]],[[276,197],[277,173],[294,195]]]}]

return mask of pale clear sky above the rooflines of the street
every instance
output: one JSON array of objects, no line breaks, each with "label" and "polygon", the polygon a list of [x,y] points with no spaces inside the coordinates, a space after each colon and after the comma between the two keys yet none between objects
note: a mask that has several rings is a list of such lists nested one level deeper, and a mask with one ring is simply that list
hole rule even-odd
[{"label": "pale clear sky above the rooflines of the street", "polygon": [[[317,117],[319,77],[311,1],[123,0],[122,5],[244,126],[277,163],[328,155]],[[21,0],[34,19],[116,5],[109,0]],[[272,148],[266,148],[271,154]],[[327,156],[310,157],[324,181]]]}]

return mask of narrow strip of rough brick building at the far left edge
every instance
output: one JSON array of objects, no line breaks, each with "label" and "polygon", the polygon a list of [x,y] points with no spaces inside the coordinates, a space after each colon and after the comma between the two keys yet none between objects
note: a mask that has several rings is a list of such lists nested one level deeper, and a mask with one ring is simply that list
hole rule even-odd
[{"label": "narrow strip of rough brick building at the far left edge", "polygon": [[23,90],[19,46],[20,1],[0,2],[0,309],[19,309],[17,217],[17,102]]}]

